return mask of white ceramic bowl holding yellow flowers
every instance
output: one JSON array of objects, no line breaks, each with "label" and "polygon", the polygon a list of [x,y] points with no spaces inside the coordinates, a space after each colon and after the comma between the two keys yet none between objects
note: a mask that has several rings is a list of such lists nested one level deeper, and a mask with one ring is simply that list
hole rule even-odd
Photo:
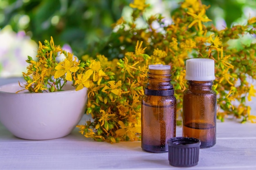
[{"label": "white ceramic bowl holding yellow flowers", "polygon": [[75,91],[26,93],[18,83],[0,86],[0,121],[16,137],[31,140],[64,137],[85,112],[87,88]]}]

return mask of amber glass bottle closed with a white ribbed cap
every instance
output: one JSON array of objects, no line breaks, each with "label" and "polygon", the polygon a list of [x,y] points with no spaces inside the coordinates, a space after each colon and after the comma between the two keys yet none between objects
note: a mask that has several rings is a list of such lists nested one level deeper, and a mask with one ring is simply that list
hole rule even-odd
[{"label": "amber glass bottle closed with a white ribbed cap", "polygon": [[182,136],[201,141],[200,148],[216,144],[216,92],[212,90],[214,60],[186,61],[188,89],[183,93]]}]

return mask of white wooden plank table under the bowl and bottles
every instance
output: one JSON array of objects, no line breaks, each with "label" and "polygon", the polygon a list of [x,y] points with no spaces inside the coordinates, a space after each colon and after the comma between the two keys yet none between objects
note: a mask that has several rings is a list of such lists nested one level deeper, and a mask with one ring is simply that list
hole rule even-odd
[{"label": "white wooden plank table under the bowl and bottles", "polygon": [[[0,78],[0,85],[16,81]],[[181,130],[177,127],[177,136]],[[218,122],[216,146],[200,149],[198,165],[190,168],[170,166],[168,153],[144,152],[140,144],[93,141],[77,128],[59,139],[24,140],[0,123],[0,170],[256,170],[256,124]]]}]

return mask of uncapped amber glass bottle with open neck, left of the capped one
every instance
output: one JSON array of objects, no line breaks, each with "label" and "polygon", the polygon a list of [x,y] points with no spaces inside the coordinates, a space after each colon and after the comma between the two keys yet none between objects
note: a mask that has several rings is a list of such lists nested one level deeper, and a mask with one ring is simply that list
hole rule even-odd
[{"label": "uncapped amber glass bottle with open neck, left of the capped one", "polygon": [[141,148],[168,152],[168,139],[176,135],[176,98],[171,66],[149,65],[148,84],[141,100]]}]

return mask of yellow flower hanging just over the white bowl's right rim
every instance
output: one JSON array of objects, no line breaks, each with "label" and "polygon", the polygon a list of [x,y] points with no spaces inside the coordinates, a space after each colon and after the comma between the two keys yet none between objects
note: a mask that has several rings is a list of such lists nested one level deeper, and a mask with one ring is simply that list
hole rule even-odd
[{"label": "yellow flower hanging just over the white bowl's right rim", "polygon": [[89,78],[92,75],[93,71],[92,69],[86,71],[83,74],[78,74],[77,77],[75,77],[75,84],[74,85],[78,85],[76,87],[76,91],[81,90],[83,87],[90,87],[90,82],[89,82]]}]

